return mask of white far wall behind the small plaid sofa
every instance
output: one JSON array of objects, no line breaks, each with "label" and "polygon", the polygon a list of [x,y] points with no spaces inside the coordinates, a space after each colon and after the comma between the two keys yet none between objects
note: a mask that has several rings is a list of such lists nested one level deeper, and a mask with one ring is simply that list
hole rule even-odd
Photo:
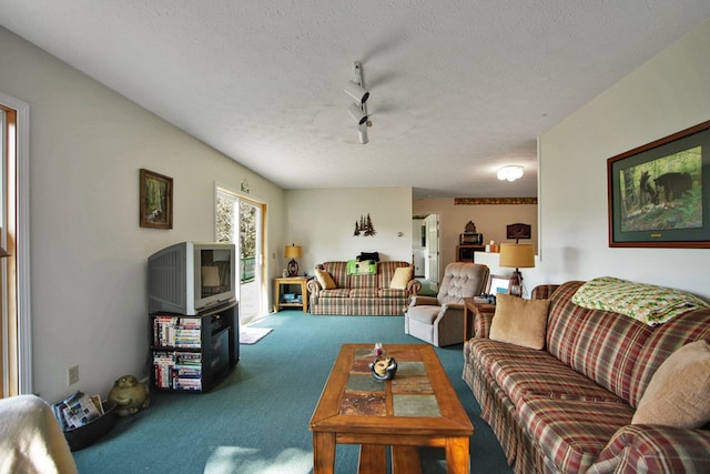
[{"label": "white far wall behind the small plaid sofa", "polygon": [[[382,260],[412,262],[412,188],[288,190],[285,205],[284,239],[303,248],[301,272],[313,274],[317,263],[369,251]],[[368,213],[377,233],[354,236],[355,221]],[[283,249],[276,262],[285,265]]]}]

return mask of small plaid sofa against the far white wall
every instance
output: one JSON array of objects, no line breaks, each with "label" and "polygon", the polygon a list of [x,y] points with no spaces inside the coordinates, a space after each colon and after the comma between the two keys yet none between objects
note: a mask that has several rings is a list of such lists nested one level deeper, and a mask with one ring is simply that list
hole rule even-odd
[{"label": "small plaid sofa against the far white wall", "polygon": [[376,274],[348,275],[347,262],[324,262],[316,268],[331,274],[337,285],[324,290],[317,280],[308,281],[308,307],[312,314],[345,315],[402,315],[416,295],[422,283],[410,280],[406,290],[393,290],[389,282],[399,266],[410,266],[409,262],[387,261],[377,263]]}]

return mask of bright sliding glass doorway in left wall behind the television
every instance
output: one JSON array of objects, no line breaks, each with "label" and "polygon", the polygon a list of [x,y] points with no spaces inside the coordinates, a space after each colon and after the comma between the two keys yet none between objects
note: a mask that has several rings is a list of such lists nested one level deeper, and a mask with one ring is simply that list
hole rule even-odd
[{"label": "bright sliding glass doorway in left wall behind the television", "polygon": [[240,302],[240,324],[264,314],[264,214],[266,204],[217,188],[216,235],[217,242],[236,245],[236,297]]}]

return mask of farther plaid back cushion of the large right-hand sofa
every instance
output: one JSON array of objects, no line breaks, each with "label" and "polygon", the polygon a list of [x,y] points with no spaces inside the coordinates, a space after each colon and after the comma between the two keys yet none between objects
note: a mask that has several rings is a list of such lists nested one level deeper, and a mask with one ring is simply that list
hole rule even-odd
[{"label": "farther plaid back cushion of the large right-hand sofa", "polygon": [[561,284],[550,297],[547,350],[597,384],[631,401],[632,373],[653,329],[631,317],[571,302],[584,282]]}]

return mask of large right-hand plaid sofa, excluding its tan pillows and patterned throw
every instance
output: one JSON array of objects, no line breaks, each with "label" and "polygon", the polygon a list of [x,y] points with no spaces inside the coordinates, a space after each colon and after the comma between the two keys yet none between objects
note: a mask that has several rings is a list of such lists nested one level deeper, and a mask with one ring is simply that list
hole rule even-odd
[{"label": "large right-hand plaid sofa, excluding its tan pillows and patterned throw", "polygon": [[464,380],[508,463],[516,473],[710,472],[710,431],[631,424],[659,365],[710,341],[710,309],[649,326],[576,305],[582,283],[534,290],[550,299],[545,350],[487,339],[494,313],[476,315],[464,344]]}]

